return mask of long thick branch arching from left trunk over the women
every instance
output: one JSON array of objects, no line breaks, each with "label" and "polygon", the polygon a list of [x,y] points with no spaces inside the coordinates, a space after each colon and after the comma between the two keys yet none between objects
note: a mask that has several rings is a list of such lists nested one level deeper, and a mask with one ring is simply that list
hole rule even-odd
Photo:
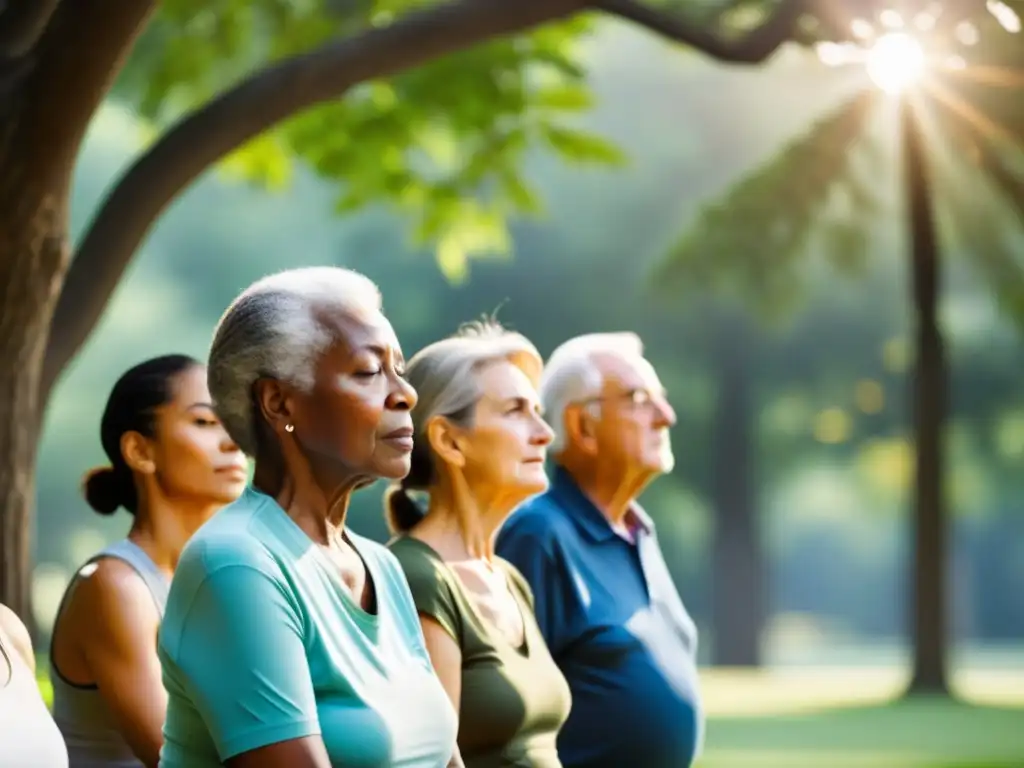
[{"label": "long thick branch arching from left trunk over the women", "polygon": [[213,163],[360,82],[586,7],[586,0],[451,0],[268,67],[184,118],[125,172],[86,232],[54,314],[43,397],[102,315],[156,218]]}]

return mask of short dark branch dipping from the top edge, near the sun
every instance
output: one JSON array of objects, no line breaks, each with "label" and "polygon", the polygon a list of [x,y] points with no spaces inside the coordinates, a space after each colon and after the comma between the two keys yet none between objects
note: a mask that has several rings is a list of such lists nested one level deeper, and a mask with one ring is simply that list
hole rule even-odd
[{"label": "short dark branch dipping from the top edge, near the sun", "polygon": [[656,35],[683,43],[719,61],[760,63],[794,34],[806,12],[805,0],[781,0],[765,24],[737,40],[723,40],[714,32],[645,5],[640,0],[594,0],[591,7],[645,27]]}]

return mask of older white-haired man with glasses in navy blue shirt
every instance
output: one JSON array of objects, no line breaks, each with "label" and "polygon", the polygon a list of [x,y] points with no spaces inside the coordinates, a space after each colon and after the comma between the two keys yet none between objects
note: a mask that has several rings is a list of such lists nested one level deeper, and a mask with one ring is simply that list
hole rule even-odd
[{"label": "older white-haired man with glasses in navy blue shirt", "polygon": [[498,553],[529,581],[572,692],[565,768],[686,768],[702,739],[696,628],[637,497],[672,471],[676,415],[631,333],[554,351],[541,399],[551,487],[505,523]]}]

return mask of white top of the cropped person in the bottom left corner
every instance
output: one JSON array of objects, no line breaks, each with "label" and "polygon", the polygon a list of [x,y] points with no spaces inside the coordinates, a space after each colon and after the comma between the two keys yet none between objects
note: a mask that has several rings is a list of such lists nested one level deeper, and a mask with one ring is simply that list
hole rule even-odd
[{"label": "white top of the cropped person in the bottom left corner", "polygon": [[27,766],[68,768],[68,753],[35,676],[0,636],[0,768]]}]

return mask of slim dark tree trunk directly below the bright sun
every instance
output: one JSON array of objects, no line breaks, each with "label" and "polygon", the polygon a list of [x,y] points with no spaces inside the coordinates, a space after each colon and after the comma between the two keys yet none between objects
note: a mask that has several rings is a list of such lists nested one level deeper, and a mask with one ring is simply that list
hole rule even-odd
[{"label": "slim dark tree trunk directly below the bright sun", "polygon": [[939,328],[939,253],[918,115],[900,105],[904,183],[910,219],[911,298],[916,365],[912,381],[916,466],[913,504],[913,672],[910,693],[948,693],[946,514],[943,480],[946,354]]}]

